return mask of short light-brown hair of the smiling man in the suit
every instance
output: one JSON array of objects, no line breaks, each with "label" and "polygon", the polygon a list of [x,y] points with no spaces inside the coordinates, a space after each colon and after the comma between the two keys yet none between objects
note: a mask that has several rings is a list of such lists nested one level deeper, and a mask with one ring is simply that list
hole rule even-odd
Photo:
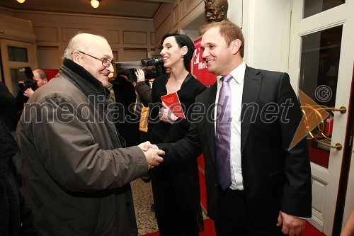
[{"label": "short light-brown hair of the smiling man in the suit", "polygon": [[207,30],[211,28],[219,28],[219,33],[222,38],[225,39],[227,47],[229,47],[232,41],[239,39],[241,40],[241,47],[239,49],[240,55],[244,58],[244,34],[242,33],[241,28],[231,21],[219,21],[209,24],[205,24],[200,28],[200,33],[204,34]]}]

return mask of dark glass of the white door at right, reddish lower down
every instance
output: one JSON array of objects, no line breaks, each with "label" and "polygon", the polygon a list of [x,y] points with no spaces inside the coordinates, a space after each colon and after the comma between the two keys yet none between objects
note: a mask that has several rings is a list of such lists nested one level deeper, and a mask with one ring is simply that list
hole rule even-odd
[{"label": "dark glass of the white door at right, reddish lower down", "polygon": [[[321,106],[334,107],[336,103],[342,30],[343,26],[336,26],[302,36],[299,89]],[[333,121],[333,114],[324,120],[324,133],[328,137]],[[330,148],[315,141],[309,145],[311,161],[328,168]]]}]

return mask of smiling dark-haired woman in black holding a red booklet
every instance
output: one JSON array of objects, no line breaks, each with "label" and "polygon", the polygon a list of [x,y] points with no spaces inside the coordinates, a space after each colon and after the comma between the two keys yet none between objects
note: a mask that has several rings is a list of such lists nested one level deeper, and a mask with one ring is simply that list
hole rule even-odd
[{"label": "smiling dark-haired woman in black holding a red booklet", "polygon": [[[176,142],[184,137],[190,125],[195,97],[205,89],[189,73],[194,44],[187,35],[168,33],[161,40],[161,48],[160,55],[169,73],[157,77],[152,85],[148,128],[149,141],[152,143]],[[136,75],[138,82],[144,80],[141,69],[137,70]],[[175,116],[162,104],[161,96],[173,92],[178,94],[185,118]],[[161,236],[199,235],[201,208],[196,158],[183,164],[162,164],[152,169],[152,191]]]}]

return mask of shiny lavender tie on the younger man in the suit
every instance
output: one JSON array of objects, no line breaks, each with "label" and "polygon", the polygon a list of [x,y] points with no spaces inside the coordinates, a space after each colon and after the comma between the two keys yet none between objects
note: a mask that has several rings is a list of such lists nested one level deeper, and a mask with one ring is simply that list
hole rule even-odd
[{"label": "shiny lavender tie on the younger man in the suit", "polygon": [[215,130],[215,150],[217,160],[217,181],[222,189],[231,185],[230,136],[231,136],[231,74],[222,77],[217,106],[217,123]]}]

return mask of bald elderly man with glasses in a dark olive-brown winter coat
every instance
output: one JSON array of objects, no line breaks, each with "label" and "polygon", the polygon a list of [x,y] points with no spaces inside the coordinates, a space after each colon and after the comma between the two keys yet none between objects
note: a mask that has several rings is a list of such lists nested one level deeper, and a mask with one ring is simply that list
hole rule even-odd
[{"label": "bald elderly man with glasses in a dark olive-brown winter coat", "polygon": [[23,192],[39,235],[137,235],[130,181],[164,152],[122,148],[107,100],[112,60],[105,38],[75,35],[59,74],[25,105]]}]

